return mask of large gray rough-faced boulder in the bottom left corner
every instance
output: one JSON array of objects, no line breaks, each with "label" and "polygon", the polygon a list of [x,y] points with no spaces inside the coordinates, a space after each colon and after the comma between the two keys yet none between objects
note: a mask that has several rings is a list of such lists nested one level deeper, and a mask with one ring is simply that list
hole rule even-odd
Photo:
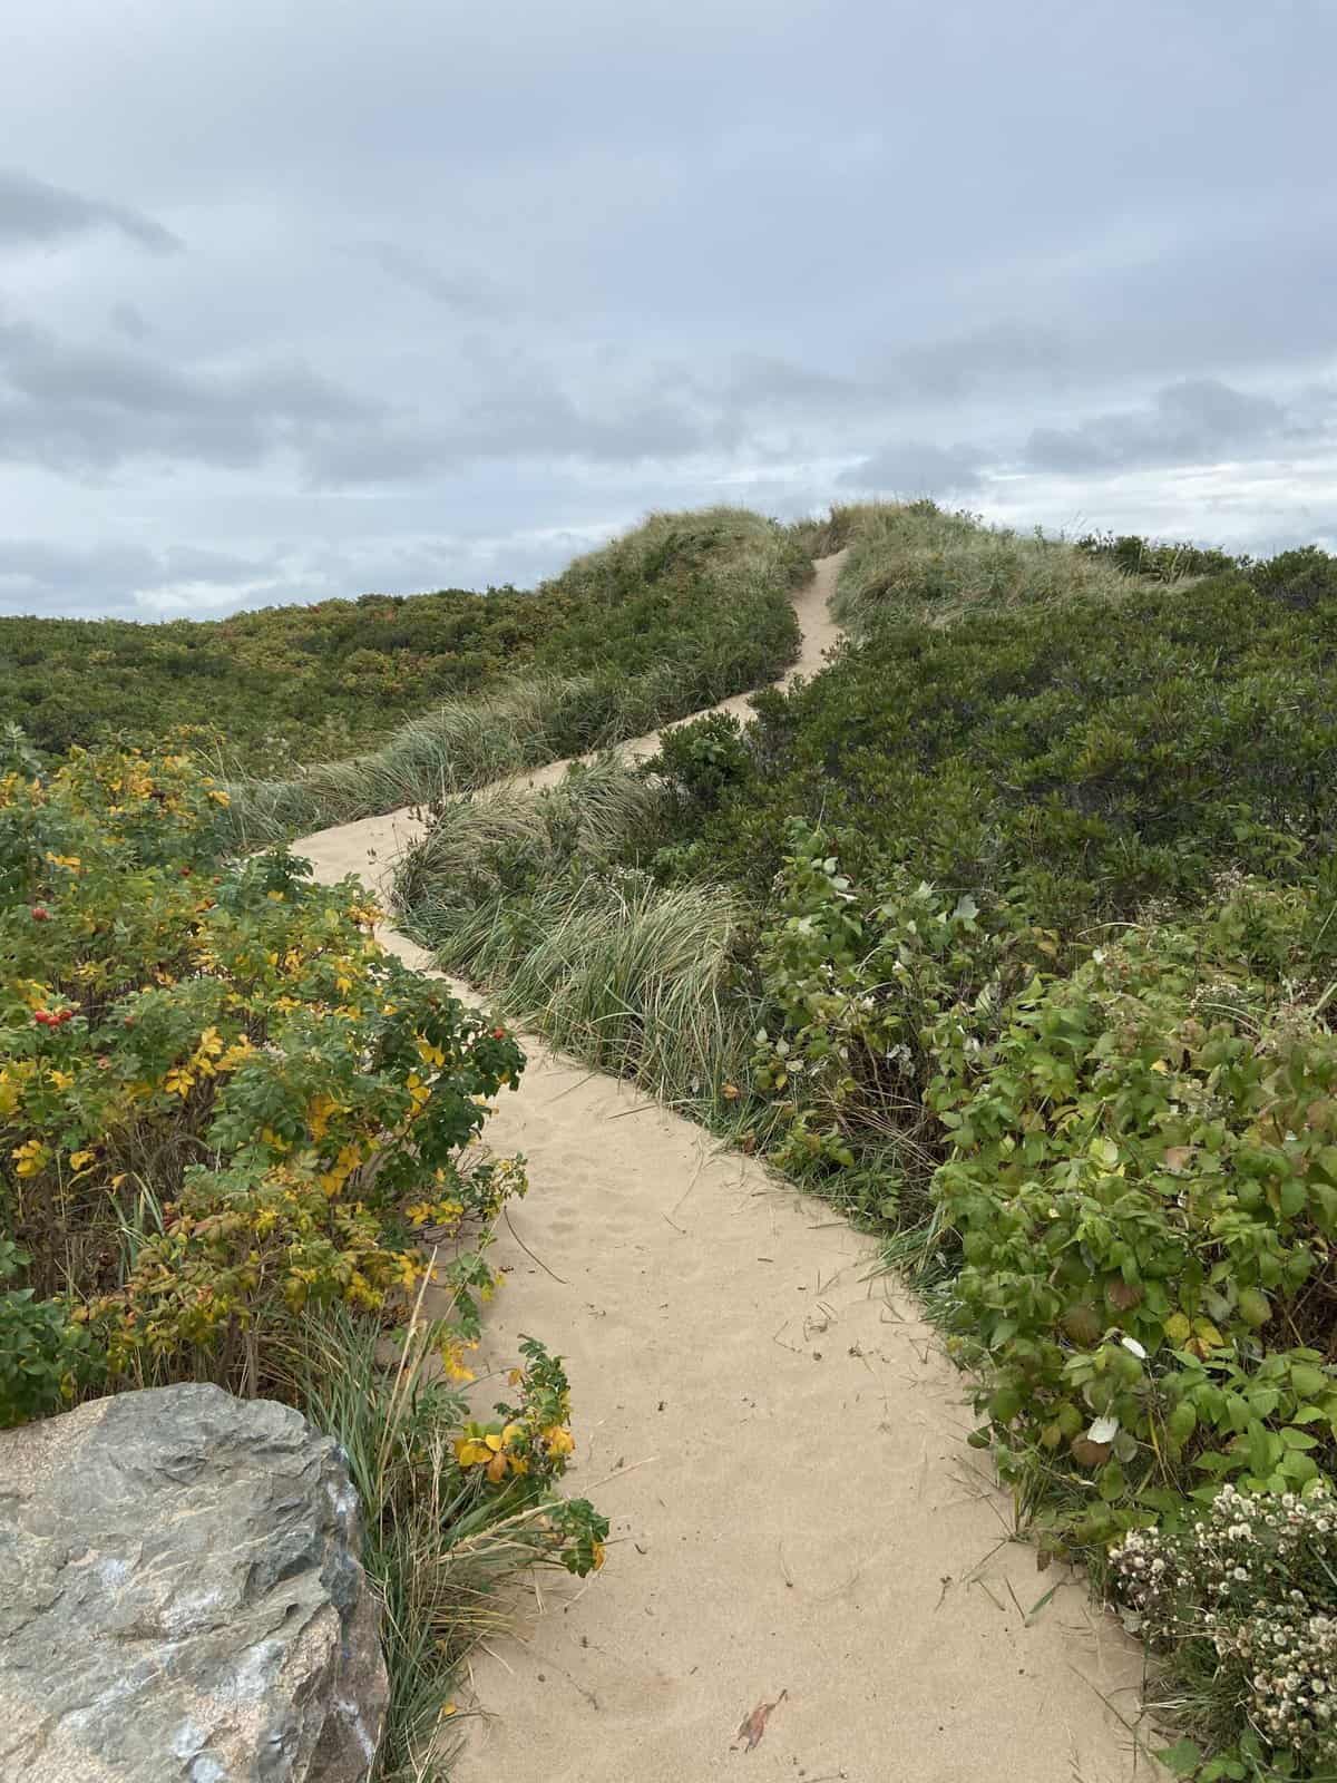
[{"label": "large gray rough-faced boulder in the bottom left corner", "polygon": [[362,1783],[380,1605],[335,1442],[178,1385],[0,1432],[0,1779]]}]

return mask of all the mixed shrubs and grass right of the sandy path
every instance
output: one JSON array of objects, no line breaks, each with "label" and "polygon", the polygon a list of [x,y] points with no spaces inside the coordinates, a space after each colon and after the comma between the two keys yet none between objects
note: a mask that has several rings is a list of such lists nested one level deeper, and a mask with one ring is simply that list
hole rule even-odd
[{"label": "all the mixed shrubs and grass right of the sandy path", "polygon": [[[447,804],[401,902],[886,1230],[1034,1533],[1159,1642],[1184,1774],[1326,1776],[1314,1701],[1260,1713],[1237,1655],[1319,1651],[1337,1565],[1337,563],[922,505],[822,542],[857,633],[822,676],[645,770]],[[1228,1642],[1184,1560],[1223,1483],[1259,1541],[1308,1517]]]}]

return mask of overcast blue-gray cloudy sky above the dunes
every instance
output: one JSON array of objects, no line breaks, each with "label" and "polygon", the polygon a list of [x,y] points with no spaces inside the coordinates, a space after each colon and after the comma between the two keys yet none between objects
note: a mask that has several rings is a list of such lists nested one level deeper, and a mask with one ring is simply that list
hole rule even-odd
[{"label": "overcast blue-gray cloudy sky above the dunes", "polygon": [[9,0],[0,612],[651,506],[1337,547],[1330,0]]}]

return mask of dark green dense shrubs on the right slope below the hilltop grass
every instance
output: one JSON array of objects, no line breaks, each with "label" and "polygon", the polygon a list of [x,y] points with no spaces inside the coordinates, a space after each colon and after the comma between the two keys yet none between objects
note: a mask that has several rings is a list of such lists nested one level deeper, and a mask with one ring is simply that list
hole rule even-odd
[{"label": "dark green dense shrubs on the right slope below the hilltop grass", "polygon": [[1064,933],[1228,865],[1292,874],[1337,824],[1335,620],[1230,576],[879,628],[756,699],[751,772],[672,840],[765,899],[802,815],[863,883],[904,865]]}]

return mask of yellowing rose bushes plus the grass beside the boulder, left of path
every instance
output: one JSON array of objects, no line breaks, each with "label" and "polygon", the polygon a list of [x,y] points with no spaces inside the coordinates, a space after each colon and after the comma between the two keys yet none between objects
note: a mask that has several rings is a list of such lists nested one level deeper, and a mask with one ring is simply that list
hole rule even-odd
[{"label": "yellowing rose bushes plus the grass beside the boulder, left of path", "polygon": [[421,1779],[488,1592],[606,1533],[554,1491],[560,1362],[528,1343],[488,1423],[460,1387],[524,1191],[478,1139],[524,1061],[357,884],[225,840],[185,756],[0,761],[0,1426],[214,1380],[339,1435],[390,1608],[383,1776]]}]

